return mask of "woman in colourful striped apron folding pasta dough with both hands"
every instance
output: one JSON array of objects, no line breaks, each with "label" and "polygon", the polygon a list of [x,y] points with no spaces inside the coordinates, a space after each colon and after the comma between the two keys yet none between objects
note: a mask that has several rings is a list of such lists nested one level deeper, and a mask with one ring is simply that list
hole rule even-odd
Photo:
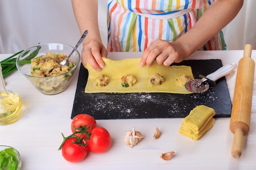
[{"label": "woman in colourful striped apron folding pasta dough with both hands", "polygon": [[221,50],[219,32],[243,0],[108,0],[108,51],[101,42],[98,0],[72,0],[80,32],[88,29],[82,62],[100,71],[108,51],[144,51],[139,65],[169,66],[198,49]]}]

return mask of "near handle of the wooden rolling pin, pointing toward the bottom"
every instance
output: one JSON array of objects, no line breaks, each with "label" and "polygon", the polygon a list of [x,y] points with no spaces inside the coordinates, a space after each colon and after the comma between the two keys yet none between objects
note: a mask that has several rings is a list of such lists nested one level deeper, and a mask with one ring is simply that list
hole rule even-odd
[{"label": "near handle of the wooden rolling pin, pointing toward the bottom", "polygon": [[243,135],[244,131],[242,129],[235,130],[233,145],[231,149],[231,155],[234,158],[239,158],[242,155]]}]

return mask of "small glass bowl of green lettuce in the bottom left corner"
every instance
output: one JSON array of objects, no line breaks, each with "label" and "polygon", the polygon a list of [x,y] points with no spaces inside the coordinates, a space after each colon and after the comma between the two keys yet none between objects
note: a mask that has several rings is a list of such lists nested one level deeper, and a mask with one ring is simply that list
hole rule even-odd
[{"label": "small glass bowl of green lettuce in the bottom left corner", "polygon": [[20,170],[21,157],[18,150],[0,145],[0,169],[1,170]]}]

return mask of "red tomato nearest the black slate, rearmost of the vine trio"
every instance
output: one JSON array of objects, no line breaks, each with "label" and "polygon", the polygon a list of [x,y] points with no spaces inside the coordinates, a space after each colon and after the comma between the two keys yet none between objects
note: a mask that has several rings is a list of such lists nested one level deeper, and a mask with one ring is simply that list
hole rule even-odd
[{"label": "red tomato nearest the black slate, rearmost of the vine trio", "polygon": [[[79,128],[79,126],[85,126],[86,127],[90,127],[92,126],[92,129],[95,128],[97,126],[97,123],[95,121],[95,119],[91,116],[91,115],[88,115],[88,114],[80,114],[80,115],[76,115],[72,121],[71,121],[71,131],[72,133],[74,133],[74,126],[75,128]],[[87,130],[89,133],[91,132],[91,129],[89,128]],[[87,137],[86,134],[79,134],[79,133],[76,133],[75,134],[76,136],[79,136],[81,139],[84,137]]]}]

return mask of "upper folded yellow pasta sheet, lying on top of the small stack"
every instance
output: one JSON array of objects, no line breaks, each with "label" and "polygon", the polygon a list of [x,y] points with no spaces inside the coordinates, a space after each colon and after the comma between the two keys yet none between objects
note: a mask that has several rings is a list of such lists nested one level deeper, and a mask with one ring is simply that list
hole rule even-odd
[{"label": "upper folded yellow pasta sheet, lying on top of the small stack", "polygon": [[187,133],[198,134],[215,115],[215,110],[204,105],[196,106],[187,117],[182,119],[182,128]]}]

